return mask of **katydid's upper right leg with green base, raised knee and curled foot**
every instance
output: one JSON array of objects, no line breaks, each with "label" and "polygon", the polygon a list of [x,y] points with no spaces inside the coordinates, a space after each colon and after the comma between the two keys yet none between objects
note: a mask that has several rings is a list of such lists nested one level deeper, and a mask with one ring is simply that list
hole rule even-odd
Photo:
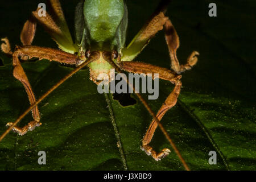
[{"label": "katydid's upper right leg with green base, raised knee and curled foot", "polygon": [[180,44],[179,36],[177,35],[177,32],[172,25],[171,20],[164,15],[164,12],[165,9],[161,6],[156,9],[156,11],[152,14],[150,20],[148,20],[146,24],[144,24],[144,26],[134,37],[131,43],[126,48],[122,49],[122,61],[133,60],[142,51],[142,49],[147,46],[147,44],[155,36],[155,34],[158,31],[164,29],[164,35],[170,53],[171,68],[176,73],[181,73],[188,69],[191,69],[193,65],[197,63],[197,56],[199,55],[199,52],[193,51],[188,57],[186,64],[179,64],[176,56],[176,51],[177,48],[179,48]]}]

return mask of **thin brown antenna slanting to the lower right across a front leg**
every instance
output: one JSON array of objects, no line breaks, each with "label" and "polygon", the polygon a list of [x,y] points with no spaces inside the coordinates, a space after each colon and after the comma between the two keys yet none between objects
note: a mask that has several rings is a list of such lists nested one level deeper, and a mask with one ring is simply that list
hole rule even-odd
[{"label": "thin brown antenna slanting to the lower right across a front leg", "polygon": [[[111,56],[108,56],[107,54],[105,54],[104,56],[104,59],[106,61],[108,61],[108,63],[110,65],[112,65],[112,67],[119,73],[123,73],[123,71],[117,66],[117,64],[114,63],[114,61],[112,60]],[[133,88],[133,92],[137,95],[137,97],[139,98],[139,100],[142,102],[142,104],[146,107],[148,113],[150,113],[150,115],[155,119],[156,123],[158,123],[158,126],[160,128],[160,130],[162,130],[162,133],[164,134],[164,136],[166,137],[166,139],[168,140],[168,142],[171,144],[172,148],[174,149],[175,153],[177,154],[177,156],[179,157],[181,163],[183,164],[184,168],[187,170],[187,171],[190,171],[189,167],[188,167],[188,164],[185,162],[185,160],[183,159],[183,157],[181,156],[180,154],[180,151],[177,149],[175,143],[172,141],[171,137],[168,135],[166,129],[164,129],[162,123],[160,123],[159,119],[156,117],[154,111],[152,111],[151,107],[147,104],[147,101],[144,100],[144,98],[141,96],[141,94],[139,93],[136,93],[135,92],[135,88],[133,85],[131,85],[129,83],[129,81],[125,78],[125,77],[122,77],[126,82],[127,84]]]}]

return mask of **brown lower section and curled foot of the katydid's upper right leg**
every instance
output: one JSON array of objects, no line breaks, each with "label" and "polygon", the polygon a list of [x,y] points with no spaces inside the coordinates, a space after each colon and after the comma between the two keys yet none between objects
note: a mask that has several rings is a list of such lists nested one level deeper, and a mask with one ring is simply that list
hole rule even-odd
[{"label": "brown lower section and curled foot of the katydid's upper right leg", "polygon": [[166,43],[169,49],[170,58],[171,58],[171,68],[176,73],[184,72],[188,69],[191,69],[193,65],[197,63],[197,57],[199,55],[199,52],[193,51],[191,55],[187,59],[187,63],[184,65],[179,64],[179,60],[176,56],[177,48],[180,46],[179,36],[177,35],[177,32],[172,25],[172,22],[170,19],[166,19],[166,23],[164,24],[164,36],[166,38]]}]

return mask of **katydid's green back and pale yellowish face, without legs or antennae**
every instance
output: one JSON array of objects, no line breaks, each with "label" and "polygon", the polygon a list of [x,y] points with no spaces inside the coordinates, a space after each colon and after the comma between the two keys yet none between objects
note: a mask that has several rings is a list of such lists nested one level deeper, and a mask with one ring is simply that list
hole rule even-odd
[{"label": "katydid's green back and pale yellowish face, without legs or antennae", "polygon": [[[113,51],[121,53],[125,45],[127,7],[120,0],[85,0],[76,6],[75,30],[79,53]],[[88,65],[90,78],[97,83],[100,73],[110,74],[112,66],[102,56]]]}]

